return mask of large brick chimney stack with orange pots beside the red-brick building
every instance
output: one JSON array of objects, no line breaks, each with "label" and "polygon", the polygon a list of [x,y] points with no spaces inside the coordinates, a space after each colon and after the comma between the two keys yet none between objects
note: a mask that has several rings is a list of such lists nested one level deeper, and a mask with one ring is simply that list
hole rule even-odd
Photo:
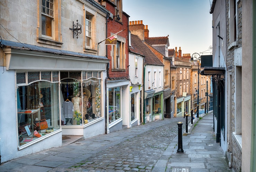
[{"label": "large brick chimney stack with orange pots beside the red-brick building", "polygon": [[139,36],[139,39],[144,41],[144,35],[146,34],[145,31],[147,30],[147,25],[145,27],[142,20],[130,21],[129,30],[131,34]]}]

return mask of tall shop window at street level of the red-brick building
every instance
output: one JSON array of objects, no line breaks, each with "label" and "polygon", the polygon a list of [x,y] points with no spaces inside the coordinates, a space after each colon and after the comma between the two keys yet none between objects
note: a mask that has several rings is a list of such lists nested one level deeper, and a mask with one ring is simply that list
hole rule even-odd
[{"label": "tall shop window at street level of the red-brick building", "polygon": [[109,123],[121,118],[121,87],[109,88],[108,90]]}]

